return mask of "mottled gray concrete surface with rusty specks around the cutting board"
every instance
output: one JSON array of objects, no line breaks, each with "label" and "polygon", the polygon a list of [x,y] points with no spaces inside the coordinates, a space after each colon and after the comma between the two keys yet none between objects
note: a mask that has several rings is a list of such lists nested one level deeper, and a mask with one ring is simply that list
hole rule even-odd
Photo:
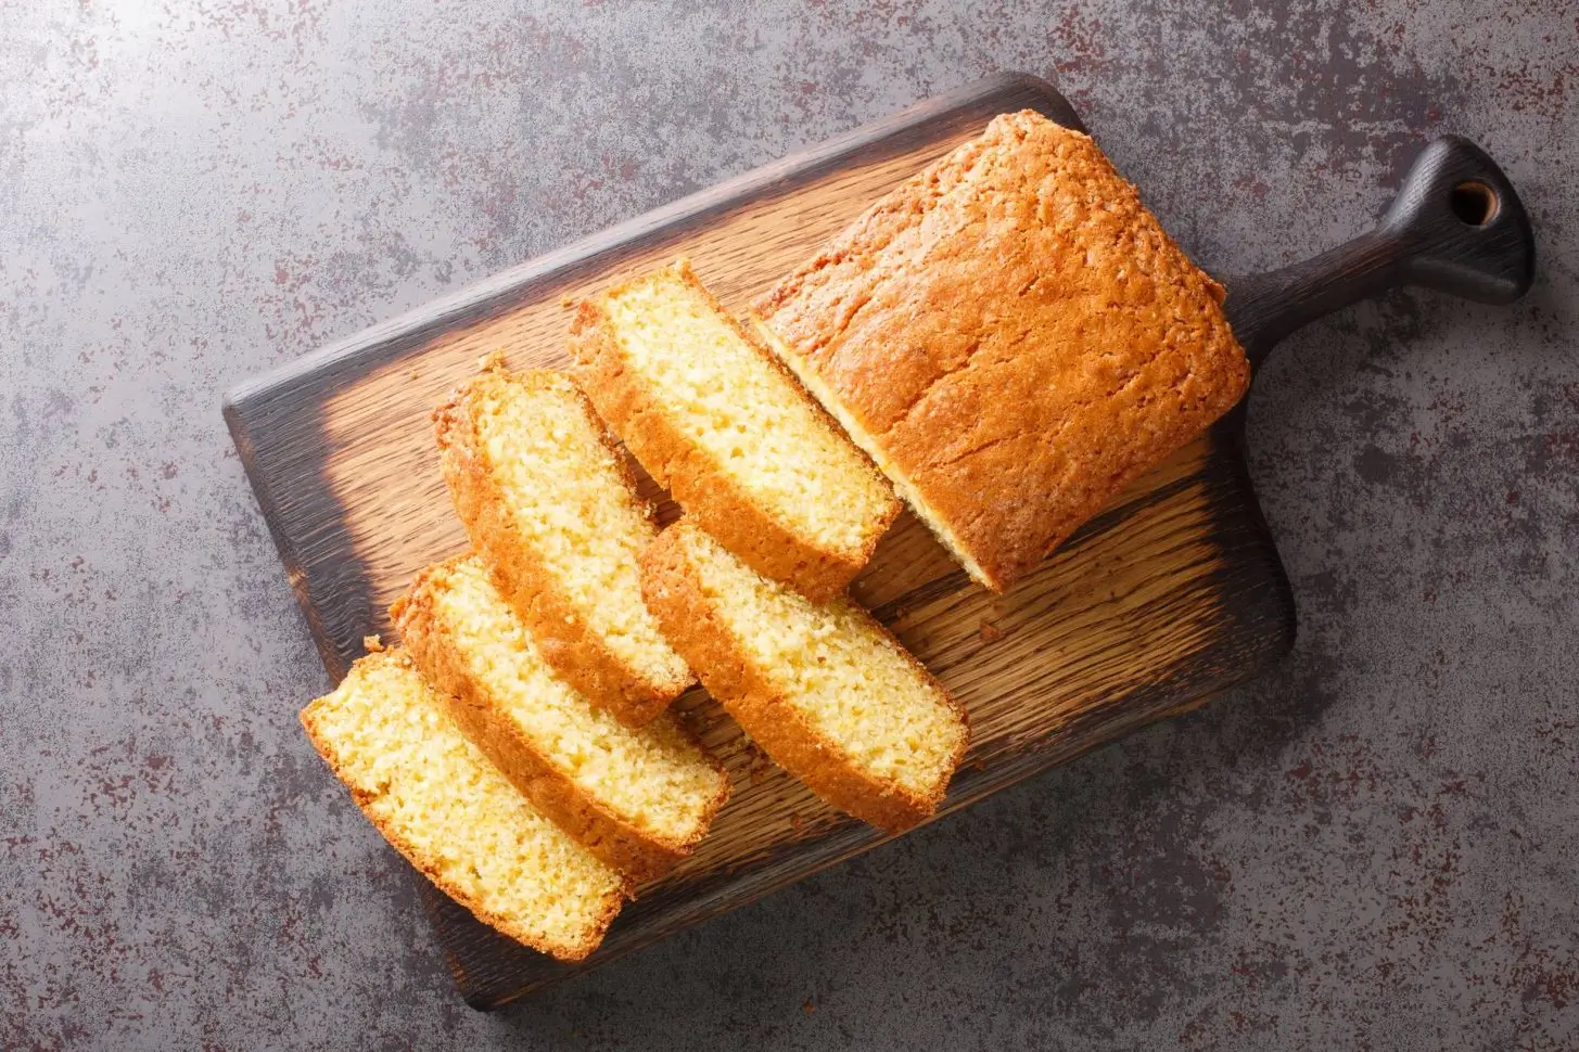
[{"label": "mottled gray concrete surface with rusty specks around the cutting board", "polygon": [[[1224,273],[1468,134],[1538,285],[1260,377],[1279,672],[474,1014],[297,727],[221,390],[995,69]],[[1579,1047],[1571,3],[38,0],[0,80],[0,1047]]]}]

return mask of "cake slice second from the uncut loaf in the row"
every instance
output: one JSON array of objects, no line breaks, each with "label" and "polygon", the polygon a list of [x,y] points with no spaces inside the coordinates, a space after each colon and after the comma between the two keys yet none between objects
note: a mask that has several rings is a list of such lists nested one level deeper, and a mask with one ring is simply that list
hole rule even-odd
[{"label": "cake slice second from the uncut loaf in the row", "polygon": [[663,711],[692,673],[641,604],[658,530],[586,396],[496,356],[433,420],[455,509],[543,661],[633,727]]}]

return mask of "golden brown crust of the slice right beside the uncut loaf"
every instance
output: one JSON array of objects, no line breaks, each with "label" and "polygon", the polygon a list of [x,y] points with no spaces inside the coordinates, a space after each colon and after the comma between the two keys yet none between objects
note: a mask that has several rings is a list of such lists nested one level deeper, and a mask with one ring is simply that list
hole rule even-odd
[{"label": "golden brown crust of the slice right beside the uncut loaf", "polygon": [[[796,390],[801,388],[799,380],[783,369],[774,353],[763,345],[761,338],[741,325],[701,284],[688,260],[676,260],[671,270],[704,297],[720,317],[763,355],[764,361],[780,369]],[[600,303],[644,279],[636,278],[608,289],[594,300],[583,300],[576,308],[570,325],[570,353],[576,361],[576,382],[647,473],[674,495],[688,516],[752,569],[796,588],[815,602],[838,595],[872,558],[872,550],[898,516],[898,502],[889,503],[859,550],[832,550],[793,532],[748,494],[741,492],[712,456],[681,434],[663,412],[663,405],[625,367],[619,339]],[[810,402],[834,434],[840,434],[838,424],[827,418],[815,401]]]}]

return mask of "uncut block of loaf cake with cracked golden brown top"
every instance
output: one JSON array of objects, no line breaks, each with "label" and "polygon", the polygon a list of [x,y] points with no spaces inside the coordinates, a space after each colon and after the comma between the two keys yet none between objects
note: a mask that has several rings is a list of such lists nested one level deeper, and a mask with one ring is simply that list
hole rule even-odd
[{"label": "uncut block of loaf cake with cracked golden brown top", "polygon": [[753,322],[1000,591],[1249,382],[1222,289],[1090,137],[1033,110],[895,188]]}]

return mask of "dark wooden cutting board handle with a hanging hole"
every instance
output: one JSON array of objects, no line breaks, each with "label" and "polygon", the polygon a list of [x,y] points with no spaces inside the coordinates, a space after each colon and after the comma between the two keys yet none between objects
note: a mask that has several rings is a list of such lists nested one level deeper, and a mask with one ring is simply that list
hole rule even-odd
[{"label": "dark wooden cutting board handle with a hanging hole", "polygon": [[1377,227],[1293,267],[1227,281],[1224,304],[1252,364],[1288,333],[1399,285],[1513,303],[1535,278],[1535,237],[1513,183],[1468,139],[1421,151]]}]

